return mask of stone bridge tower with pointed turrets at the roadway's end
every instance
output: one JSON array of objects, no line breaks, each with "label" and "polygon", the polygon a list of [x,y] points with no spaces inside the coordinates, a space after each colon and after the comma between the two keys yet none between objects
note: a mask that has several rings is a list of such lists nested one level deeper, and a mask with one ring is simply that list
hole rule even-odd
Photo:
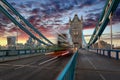
[{"label": "stone bridge tower with pointed turrets at the roadway's end", "polygon": [[70,35],[72,37],[72,42],[74,48],[82,48],[82,27],[83,27],[83,18],[78,18],[77,14],[75,14],[73,20],[69,20],[70,24]]}]

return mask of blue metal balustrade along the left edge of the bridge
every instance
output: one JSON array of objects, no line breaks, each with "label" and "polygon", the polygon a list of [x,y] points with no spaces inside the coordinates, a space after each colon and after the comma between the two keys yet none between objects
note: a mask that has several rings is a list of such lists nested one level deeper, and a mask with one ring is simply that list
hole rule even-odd
[{"label": "blue metal balustrade along the left edge of the bridge", "polygon": [[45,54],[47,52],[52,52],[52,50],[47,49],[0,50],[0,62]]}]

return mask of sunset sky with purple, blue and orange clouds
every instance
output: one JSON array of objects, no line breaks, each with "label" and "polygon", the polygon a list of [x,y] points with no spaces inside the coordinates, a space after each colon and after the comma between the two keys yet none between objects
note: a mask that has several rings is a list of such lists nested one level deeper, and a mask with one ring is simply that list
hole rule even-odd
[{"label": "sunset sky with purple, blue and orange clouds", "polygon": [[[7,0],[25,19],[50,41],[56,43],[58,33],[69,33],[69,18],[83,16],[83,34],[88,42],[102,14],[106,0]],[[113,38],[120,40],[120,5],[112,20]],[[110,40],[109,24],[102,39]],[[37,35],[36,33],[34,33]],[[7,36],[18,35],[18,43],[25,43],[28,35],[0,12],[0,45],[6,45]],[[38,35],[37,35],[38,36]],[[106,37],[107,36],[107,37]],[[115,41],[116,42],[116,41]],[[120,41],[119,41],[120,42]],[[114,43],[117,45],[117,43]],[[118,44],[119,45],[119,44]]]}]

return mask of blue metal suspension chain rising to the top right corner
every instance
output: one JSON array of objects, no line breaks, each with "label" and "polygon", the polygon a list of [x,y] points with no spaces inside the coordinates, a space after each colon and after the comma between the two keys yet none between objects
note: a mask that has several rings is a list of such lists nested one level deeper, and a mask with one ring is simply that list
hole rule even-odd
[{"label": "blue metal suspension chain rising to the top right corner", "polygon": [[[108,12],[107,12],[106,16],[105,16],[105,9],[106,9],[107,5],[109,4],[109,1],[110,0],[107,0],[107,2],[106,2],[105,8],[103,10],[103,14],[101,15],[101,18],[99,19],[99,22],[98,22],[98,24],[97,24],[97,26],[96,26],[96,28],[95,28],[95,30],[93,32],[93,35],[91,36],[91,39],[90,39],[90,41],[88,43],[88,46],[94,44],[97,41],[98,36],[99,37],[101,36],[101,34],[103,33],[104,29],[106,28],[106,26],[107,26],[107,24],[109,22],[110,13],[113,14],[113,12],[116,10],[116,8],[117,8],[117,6],[118,6],[118,4],[120,2],[120,0],[112,0],[112,3],[111,3],[111,5],[110,5],[110,7],[108,9]],[[104,16],[105,16],[105,19],[103,20],[103,23],[101,23]],[[101,24],[99,24],[99,23],[101,23]],[[99,25],[100,25],[100,27],[99,27]],[[99,28],[99,30],[98,30],[98,28]]]}]

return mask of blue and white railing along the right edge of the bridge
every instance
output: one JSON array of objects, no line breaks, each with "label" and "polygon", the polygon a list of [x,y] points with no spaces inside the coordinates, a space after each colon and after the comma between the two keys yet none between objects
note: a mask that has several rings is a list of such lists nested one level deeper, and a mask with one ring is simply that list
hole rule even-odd
[{"label": "blue and white railing along the right edge of the bridge", "polygon": [[120,50],[109,50],[109,49],[89,49],[91,51],[96,52],[97,54],[101,54],[103,56],[107,56],[109,58],[115,58],[116,60],[120,59]]}]

